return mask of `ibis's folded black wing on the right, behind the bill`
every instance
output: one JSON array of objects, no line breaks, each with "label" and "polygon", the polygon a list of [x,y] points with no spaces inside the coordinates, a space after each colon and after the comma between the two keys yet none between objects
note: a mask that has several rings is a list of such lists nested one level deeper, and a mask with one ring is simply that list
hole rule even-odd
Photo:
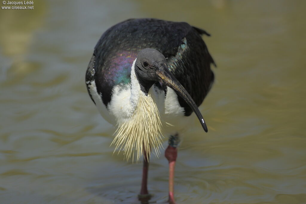
[{"label": "ibis's folded black wing on the right, behind the bill", "polygon": [[[209,35],[206,31],[191,27],[176,54],[168,57],[167,64],[177,80],[185,87],[197,106],[200,106],[214,82],[215,76],[211,70],[211,64],[215,62],[208,52],[201,35]],[[185,109],[185,115],[189,116],[192,109],[183,98],[178,96],[178,101]]]}]

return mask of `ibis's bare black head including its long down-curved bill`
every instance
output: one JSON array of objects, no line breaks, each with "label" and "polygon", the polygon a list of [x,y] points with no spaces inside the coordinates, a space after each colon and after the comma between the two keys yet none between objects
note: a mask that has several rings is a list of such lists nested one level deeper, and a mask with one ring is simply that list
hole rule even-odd
[{"label": "ibis's bare black head including its long down-curved bill", "polygon": [[135,62],[135,74],[144,93],[148,93],[151,86],[157,81],[172,88],[180,95],[196,113],[205,132],[207,126],[196,103],[186,89],[169,71],[165,56],[158,50],[146,48],[140,50]]}]

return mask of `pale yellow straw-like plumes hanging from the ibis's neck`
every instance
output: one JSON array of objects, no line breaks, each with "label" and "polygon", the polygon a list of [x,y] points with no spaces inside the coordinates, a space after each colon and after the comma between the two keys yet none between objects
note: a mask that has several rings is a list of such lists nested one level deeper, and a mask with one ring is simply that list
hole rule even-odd
[{"label": "pale yellow straw-like plumes hanging from the ibis's neck", "polygon": [[139,101],[132,117],[118,124],[112,142],[116,145],[115,151],[123,150],[125,159],[132,157],[133,161],[135,157],[139,161],[144,151],[149,158],[151,149],[158,155],[162,146],[162,123],[153,92],[150,89],[146,96],[139,91]]}]

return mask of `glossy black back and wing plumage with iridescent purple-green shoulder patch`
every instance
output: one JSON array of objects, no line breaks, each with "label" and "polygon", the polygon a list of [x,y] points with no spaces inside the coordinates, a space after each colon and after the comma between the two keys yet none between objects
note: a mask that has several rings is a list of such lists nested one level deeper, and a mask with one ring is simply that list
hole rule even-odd
[{"label": "glossy black back and wing plumage with iridescent purple-green shoulder patch", "polygon": [[[184,22],[158,19],[129,19],[109,28],[95,46],[86,72],[86,81],[95,80],[103,103],[110,102],[112,88],[130,83],[132,62],[144,48],[153,48],[167,59],[169,70],[189,92],[197,106],[207,95],[214,74],[214,63],[207,50],[202,29]],[[89,91],[88,91],[89,92]],[[192,113],[188,104],[178,96],[185,115]]]}]

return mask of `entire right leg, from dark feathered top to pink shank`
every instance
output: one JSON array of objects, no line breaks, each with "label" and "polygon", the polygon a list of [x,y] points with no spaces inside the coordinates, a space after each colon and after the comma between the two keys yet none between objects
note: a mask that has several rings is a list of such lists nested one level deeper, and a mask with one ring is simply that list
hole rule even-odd
[{"label": "entire right leg, from dark feathered top to pink shank", "polygon": [[169,138],[169,146],[165,151],[165,157],[169,161],[169,203],[174,204],[174,167],[177,158],[177,145],[179,143],[178,134],[171,135]]}]

